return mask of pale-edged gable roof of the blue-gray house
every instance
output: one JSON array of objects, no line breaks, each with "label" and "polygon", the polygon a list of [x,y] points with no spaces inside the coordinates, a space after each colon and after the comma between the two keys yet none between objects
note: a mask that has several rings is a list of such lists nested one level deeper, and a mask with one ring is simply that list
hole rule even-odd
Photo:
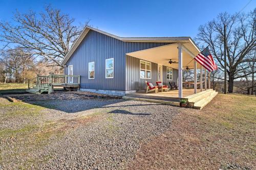
[{"label": "pale-edged gable roof of the blue-gray house", "polygon": [[68,54],[65,56],[65,58],[62,60],[62,62],[60,63],[61,66],[65,65],[65,63],[69,60],[69,58],[72,56],[72,54],[75,52],[76,48],[79,46],[79,44],[82,42],[83,38],[86,37],[86,35],[88,34],[88,32],[90,30],[99,32],[101,34],[110,36],[112,38],[124,41],[124,42],[189,42],[191,44],[193,44],[193,46],[195,47],[195,50],[197,51],[196,53],[200,53],[199,48],[197,47],[197,45],[195,44],[195,42],[190,38],[190,37],[118,37],[116,35],[86,26],[82,33],[79,35],[79,37],[77,38],[77,40],[75,41],[75,43],[72,45],[72,47],[70,48],[70,51],[68,52]]}]

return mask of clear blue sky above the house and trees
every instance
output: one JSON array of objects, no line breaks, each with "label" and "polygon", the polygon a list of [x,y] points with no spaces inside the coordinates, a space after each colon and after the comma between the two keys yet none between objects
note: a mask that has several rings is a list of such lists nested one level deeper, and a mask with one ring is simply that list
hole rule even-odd
[{"label": "clear blue sky above the house and trees", "polygon": [[[40,12],[51,4],[75,18],[76,24],[91,19],[100,30],[121,37],[175,37],[197,35],[198,27],[220,12],[239,12],[250,0],[215,1],[3,1],[0,20],[10,21],[13,13],[32,9]],[[256,0],[243,9],[256,7]]]}]

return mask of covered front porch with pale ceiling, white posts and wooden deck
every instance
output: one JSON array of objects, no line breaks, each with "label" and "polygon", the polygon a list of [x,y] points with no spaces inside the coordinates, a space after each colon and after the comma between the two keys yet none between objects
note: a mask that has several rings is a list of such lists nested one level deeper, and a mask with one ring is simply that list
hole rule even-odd
[{"label": "covered front porch with pale ceiling, white posts and wooden deck", "polygon": [[[153,82],[153,80],[161,81],[164,85],[168,86],[170,82],[175,82],[178,89],[151,93],[137,91],[135,93],[126,94],[126,98],[165,101],[171,102],[174,105],[178,105],[181,99],[185,99],[190,106],[201,109],[214,98],[217,93],[210,89],[210,72],[194,60],[199,53],[200,50],[191,40],[176,40],[176,42],[168,45],[127,53],[127,56],[157,63],[157,78],[150,77],[150,79],[145,79],[145,81],[151,82],[154,85],[156,82]],[[172,68],[167,69],[168,71],[172,70],[172,78],[169,78],[169,81],[163,81],[166,80],[166,77],[164,77],[166,74],[163,74],[163,67]],[[177,80],[173,77],[173,69],[178,70]],[[193,70],[193,80],[184,80],[183,75],[187,70]],[[167,74],[169,73],[167,72]]]}]

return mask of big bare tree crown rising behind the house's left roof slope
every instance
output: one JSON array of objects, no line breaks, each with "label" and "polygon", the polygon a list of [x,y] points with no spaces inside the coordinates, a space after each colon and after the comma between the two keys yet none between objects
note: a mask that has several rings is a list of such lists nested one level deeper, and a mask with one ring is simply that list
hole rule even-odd
[{"label": "big bare tree crown rising behind the house's left roof slope", "polygon": [[82,27],[74,25],[73,18],[51,6],[39,14],[17,11],[14,22],[13,25],[0,22],[0,41],[5,43],[4,48],[11,43],[18,44],[49,65],[60,65],[82,31]]}]

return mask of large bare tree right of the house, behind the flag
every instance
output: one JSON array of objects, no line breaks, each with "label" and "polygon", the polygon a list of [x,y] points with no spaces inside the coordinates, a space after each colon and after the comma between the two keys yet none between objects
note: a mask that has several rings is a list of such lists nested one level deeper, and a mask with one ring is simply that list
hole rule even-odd
[{"label": "large bare tree right of the house, behind the flag", "polygon": [[[247,62],[247,54],[256,45],[256,9],[248,14],[221,13],[217,19],[209,21],[199,27],[196,40],[199,44],[209,45],[211,54],[218,61],[219,69],[224,71],[224,25],[226,26],[226,52],[227,52],[227,74],[228,91],[233,92],[234,80],[242,78],[241,65]],[[251,74],[251,73],[248,73]]]}]

